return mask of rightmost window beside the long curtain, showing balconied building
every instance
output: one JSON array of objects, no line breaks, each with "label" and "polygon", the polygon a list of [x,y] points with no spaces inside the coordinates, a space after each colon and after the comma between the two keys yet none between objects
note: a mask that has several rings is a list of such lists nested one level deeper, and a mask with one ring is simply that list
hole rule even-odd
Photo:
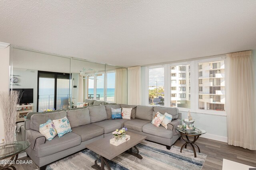
[{"label": "rightmost window beside the long curtain, showing balconied building", "polygon": [[[204,72],[205,81],[199,79],[199,109],[205,110],[225,110],[225,70],[224,61],[198,63],[198,68],[201,68],[199,76],[202,75],[200,72]],[[202,94],[202,86],[204,86],[204,92]]]}]

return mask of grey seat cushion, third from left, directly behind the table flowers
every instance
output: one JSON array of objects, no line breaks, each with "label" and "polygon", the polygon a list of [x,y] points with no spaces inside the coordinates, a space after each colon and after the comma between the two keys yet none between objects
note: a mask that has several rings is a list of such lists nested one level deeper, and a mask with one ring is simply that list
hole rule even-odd
[{"label": "grey seat cushion, third from left, directly behind the table flowers", "polygon": [[121,128],[121,124],[113,120],[104,120],[92,124],[104,128],[104,134],[114,132],[116,129]]}]

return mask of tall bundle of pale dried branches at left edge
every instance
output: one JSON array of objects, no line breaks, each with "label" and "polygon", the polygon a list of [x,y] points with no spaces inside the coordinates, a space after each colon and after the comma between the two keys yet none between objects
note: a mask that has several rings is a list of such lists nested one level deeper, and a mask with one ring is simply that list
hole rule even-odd
[{"label": "tall bundle of pale dried branches at left edge", "polygon": [[4,120],[4,138],[6,142],[14,140],[18,98],[18,91],[0,92],[0,108]]}]

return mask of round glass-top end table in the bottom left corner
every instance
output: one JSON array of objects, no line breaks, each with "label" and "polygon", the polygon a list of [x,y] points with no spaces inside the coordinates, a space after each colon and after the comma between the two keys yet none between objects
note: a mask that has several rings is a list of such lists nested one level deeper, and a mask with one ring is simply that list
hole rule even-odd
[{"label": "round glass-top end table in the bottom left corner", "polygon": [[5,164],[4,166],[0,166],[0,170],[10,170],[10,168],[16,170],[12,165],[16,163],[18,154],[29,146],[30,143],[28,141],[14,141],[0,144],[0,164]]}]

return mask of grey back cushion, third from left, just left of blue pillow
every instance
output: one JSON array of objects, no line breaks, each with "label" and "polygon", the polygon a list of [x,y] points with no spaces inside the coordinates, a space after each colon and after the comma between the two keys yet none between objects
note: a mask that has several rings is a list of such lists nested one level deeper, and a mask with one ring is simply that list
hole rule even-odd
[{"label": "grey back cushion, third from left, just left of blue pillow", "polygon": [[91,123],[108,119],[105,105],[88,107],[91,117]]}]

